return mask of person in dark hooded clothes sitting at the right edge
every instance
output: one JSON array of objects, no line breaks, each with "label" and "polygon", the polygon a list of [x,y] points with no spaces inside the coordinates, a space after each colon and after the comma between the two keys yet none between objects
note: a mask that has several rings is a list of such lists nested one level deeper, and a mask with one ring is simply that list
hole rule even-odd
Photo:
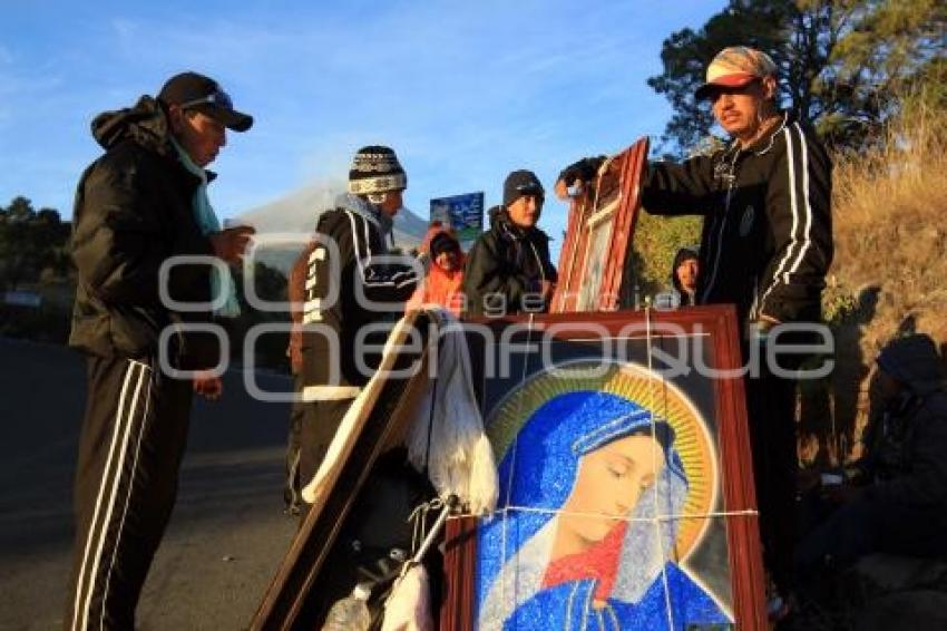
[{"label": "person in dark hooded clothes sitting at the right edge", "polygon": [[824,487],[838,505],[797,547],[795,571],[811,579],[875,552],[947,554],[947,382],[934,340],[895,339],[878,356],[882,411],[866,430],[866,455],[845,483]]}]

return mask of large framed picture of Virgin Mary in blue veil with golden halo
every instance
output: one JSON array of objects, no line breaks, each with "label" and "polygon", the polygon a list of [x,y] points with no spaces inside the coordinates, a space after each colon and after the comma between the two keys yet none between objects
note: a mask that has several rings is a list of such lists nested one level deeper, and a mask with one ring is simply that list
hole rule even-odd
[{"label": "large framed picture of Virgin Mary in blue veil with golden halo", "polygon": [[731,307],[481,321],[497,511],[448,522],[442,629],[759,629]]}]

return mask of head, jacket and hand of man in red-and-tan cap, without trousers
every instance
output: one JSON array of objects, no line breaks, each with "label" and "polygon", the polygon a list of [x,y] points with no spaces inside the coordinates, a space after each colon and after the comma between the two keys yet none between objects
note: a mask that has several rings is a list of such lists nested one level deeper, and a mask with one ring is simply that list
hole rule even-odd
[{"label": "head, jacket and hand of man in red-and-tan cap, without trousers", "polygon": [[[699,99],[733,136],[724,149],[644,172],[652,214],[702,215],[697,304],[736,304],[743,324],[816,322],[832,260],[831,164],[812,130],[777,104],[777,67],[745,47],[721,51]],[[566,167],[560,197],[604,158]]]}]

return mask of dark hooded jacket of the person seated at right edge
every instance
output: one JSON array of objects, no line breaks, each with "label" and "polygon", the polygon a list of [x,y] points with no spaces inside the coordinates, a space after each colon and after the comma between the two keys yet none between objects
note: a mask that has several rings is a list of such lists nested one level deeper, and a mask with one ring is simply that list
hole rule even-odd
[{"label": "dark hooded jacket of the person seated at right edge", "polygon": [[947,385],[928,336],[894,340],[878,357],[902,389],[866,431],[858,465],[871,482],[869,497],[928,508],[947,524]]}]

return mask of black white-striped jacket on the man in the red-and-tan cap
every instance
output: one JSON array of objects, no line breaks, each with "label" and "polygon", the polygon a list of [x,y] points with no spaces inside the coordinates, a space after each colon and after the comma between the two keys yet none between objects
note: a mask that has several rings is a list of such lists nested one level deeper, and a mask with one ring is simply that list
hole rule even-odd
[{"label": "black white-striped jacket on the man in the red-and-tan cap", "polygon": [[682,164],[652,163],[642,203],[704,216],[697,304],[734,303],[740,321],[812,322],[832,262],[831,164],[783,114],[762,139]]}]

